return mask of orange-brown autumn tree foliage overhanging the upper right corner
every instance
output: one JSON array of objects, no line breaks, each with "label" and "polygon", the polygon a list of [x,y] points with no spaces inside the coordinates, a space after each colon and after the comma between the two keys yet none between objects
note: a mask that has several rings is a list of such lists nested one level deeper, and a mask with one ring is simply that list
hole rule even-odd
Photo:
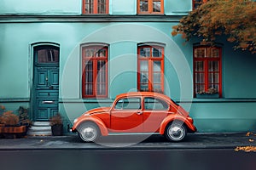
[{"label": "orange-brown autumn tree foliage overhanging the upper right corner", "polygon": [[241,48],[256,53],[256,3],[254,0],[209,0],[184,16],[172,27],[172,36],[182,34],[186,41],[200,37],[214,43],[216,37],[227,37]]}]

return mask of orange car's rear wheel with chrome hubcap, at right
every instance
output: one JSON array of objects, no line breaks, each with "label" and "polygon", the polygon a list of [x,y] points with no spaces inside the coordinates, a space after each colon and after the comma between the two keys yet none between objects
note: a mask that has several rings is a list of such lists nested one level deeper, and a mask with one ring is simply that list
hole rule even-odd
[{"label": "orange car's rear wheel with chrome hubcap, at right", "polygon": [[171,122],[166,127],[166,138],[173,142],[181,141],[187,135],[187,128],[183,122]]}]

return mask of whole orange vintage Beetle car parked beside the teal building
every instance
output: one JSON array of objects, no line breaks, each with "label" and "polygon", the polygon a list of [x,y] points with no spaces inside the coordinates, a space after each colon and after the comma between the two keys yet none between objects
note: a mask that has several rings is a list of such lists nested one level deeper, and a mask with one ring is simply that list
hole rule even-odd
[{"label": "whole orange vintage Beetle car parked beside the teal building", "polygon": [[84,142],[111,134],[160,133],[170,141],[181,141],[196,127],[189,113],[164,94],[133,92],[119,94],[111,107],[86,111],[73,122]]}]

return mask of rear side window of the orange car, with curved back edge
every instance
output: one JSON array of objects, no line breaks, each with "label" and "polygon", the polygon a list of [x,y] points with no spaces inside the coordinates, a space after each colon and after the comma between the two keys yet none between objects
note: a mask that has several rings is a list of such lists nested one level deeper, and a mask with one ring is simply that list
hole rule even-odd
[{"label": "rear side window of the orange car, with curved back edge", "polygon": [[144,109],[147,111],[166,111],[169,105],[161,100],[155,98],[145,98],[144,99]]}]

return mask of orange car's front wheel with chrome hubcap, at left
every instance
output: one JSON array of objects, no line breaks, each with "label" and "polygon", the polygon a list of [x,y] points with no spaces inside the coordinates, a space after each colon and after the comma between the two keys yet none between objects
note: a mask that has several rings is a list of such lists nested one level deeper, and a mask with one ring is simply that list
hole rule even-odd
[{"label": "orange car's front wheel with chrome hubcap, at left", "polygon": [[100,136],[100,130],[95,123],[84,122],[79,126],[79,139],[84,142],[95,142]]}]

